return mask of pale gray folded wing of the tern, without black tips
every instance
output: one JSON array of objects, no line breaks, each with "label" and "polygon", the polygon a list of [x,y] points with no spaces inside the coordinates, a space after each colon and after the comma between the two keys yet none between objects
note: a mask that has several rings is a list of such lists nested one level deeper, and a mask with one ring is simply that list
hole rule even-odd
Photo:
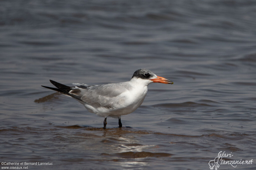
[{"label": "pale gray folded wing of the tern, without black tips", "polygon": [[112,108],[113,104],[118,104],[122,98],[119,96],[131,88],[129,82],[111,83],[105,85],[93,85],[74,83],[76,88],[69,91],[70,94],[79,96],[83,102],[93,107]]}]

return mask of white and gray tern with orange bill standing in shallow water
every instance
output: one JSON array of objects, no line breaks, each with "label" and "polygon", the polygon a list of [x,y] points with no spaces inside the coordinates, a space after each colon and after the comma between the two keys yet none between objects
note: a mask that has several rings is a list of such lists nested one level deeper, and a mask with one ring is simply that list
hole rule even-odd
[{"label": "white and gray tern with orange bill standing in shallow water", "polygon": [[72,97],[82,103],[91,113],[104,117],[103,129],[106,129],[107,117],[118,118],[122,127],[121,116],[134,112],[144,101],[150,83],[173,84],[172,81],[157,76],[148,69],[138,69],[130,81],[103,85],[87,85],[72,83],[69,87],[53,80],[50,82],[57,88],[42,86]]}]

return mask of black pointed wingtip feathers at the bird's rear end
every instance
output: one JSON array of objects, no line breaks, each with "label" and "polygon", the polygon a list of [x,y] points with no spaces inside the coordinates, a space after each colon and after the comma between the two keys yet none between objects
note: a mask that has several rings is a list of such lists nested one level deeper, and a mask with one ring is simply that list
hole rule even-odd
[{"label": "black pointed wingtip feathers at the bird's rear end", "polygon": [[61,94],[63,94],[63,95],[70,96],[70,97],[73,97],[74,99],[77,99],[77,100],[82,101],[79,96],[76,96],[76,95],[73,95],[73,94],[70,94],[70,93],[69,93],[69,91],[73,89],[72,87],[66,86],[66,85],[64,85],[64,84],[58,83],[58,82],[53,81],[53,80],[50,80],[50,82],[51,82],[55,87],[57,87],[57,88],[47,87],[47,86],[42,86],[42,87],[45,87],[45,88],[49,88],[49,89],[51,89],[51,90],[58,91],[59,93],[61,93]]}]

